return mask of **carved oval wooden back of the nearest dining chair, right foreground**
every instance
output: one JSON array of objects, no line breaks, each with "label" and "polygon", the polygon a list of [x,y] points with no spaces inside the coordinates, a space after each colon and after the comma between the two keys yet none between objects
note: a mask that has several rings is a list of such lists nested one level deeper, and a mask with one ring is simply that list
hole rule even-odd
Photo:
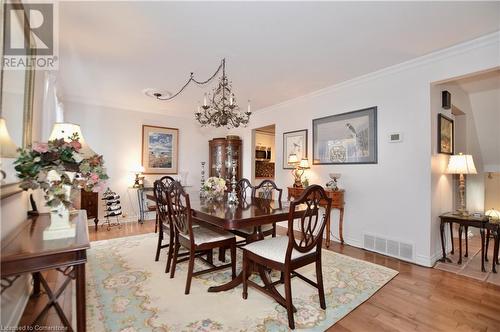
[{"label": "carved oval wooden back of the nearest dining chair, right foreground", "polygon": [[[322,216],[319,213],[321,201],[323,206],[326,202],[325,212]],[[297,206],[301,204],[305,206],[305,210],[296,211]],[[305,253],[316,247],[316,252],[321,252],[323,232],[328,218],[330,218],[331,208],[332,200],[326,195],[323,187],[319,185],[307,187],[299,198],[290,203],[288,229],[298,229],[299,236],[296,237],[293,231],[288,232],[289,241],[285,256],[287,262],[290,261],[294,249]]]}]

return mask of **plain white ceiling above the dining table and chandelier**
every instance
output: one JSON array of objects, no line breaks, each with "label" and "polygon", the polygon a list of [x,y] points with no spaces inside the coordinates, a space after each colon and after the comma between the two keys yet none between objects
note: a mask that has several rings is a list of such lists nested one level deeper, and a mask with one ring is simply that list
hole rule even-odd
[{"label": "plain white ceiling above the dining table and chandelier", "polygon": [[[60,2],[63,100],[192,116],[227,59],[238,103],[271,106],[500,30],[499,2]],[[215,83],[215,82],[214,82]]]}]

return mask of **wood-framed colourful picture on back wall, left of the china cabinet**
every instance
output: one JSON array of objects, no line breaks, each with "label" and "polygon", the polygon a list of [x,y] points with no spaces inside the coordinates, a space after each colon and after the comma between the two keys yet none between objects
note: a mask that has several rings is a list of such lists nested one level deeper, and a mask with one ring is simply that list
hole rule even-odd
[{"label": "wood-framed colourful picture on back wall, left of the china cabinet", "polygon": [[144,174],[177,174],[179,129],[142,126]]}]

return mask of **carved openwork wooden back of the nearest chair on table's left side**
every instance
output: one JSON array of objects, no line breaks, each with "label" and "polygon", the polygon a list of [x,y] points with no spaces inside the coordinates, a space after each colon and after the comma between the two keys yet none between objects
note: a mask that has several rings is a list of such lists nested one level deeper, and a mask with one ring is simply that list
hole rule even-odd
[{"label": "carved openwork wooden back of the nearest chair on table's left side", "polygon": [[168,215],[176,234],[189,236],[191,245],[194,245],[193,219],[191,215],[191,203],[179,181],[174,181],[167,189]]}]

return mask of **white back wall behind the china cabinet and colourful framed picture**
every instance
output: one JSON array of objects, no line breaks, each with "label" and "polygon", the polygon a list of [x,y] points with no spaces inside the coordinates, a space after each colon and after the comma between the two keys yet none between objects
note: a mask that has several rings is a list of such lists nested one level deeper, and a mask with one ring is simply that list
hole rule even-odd
[{"label": "white back wall behind the china cabinet and colourful framed picture", "polygon": [[[200,128],[192,118],[165,116],[158,113],[137,112],[118,108],[86,105],[65,101],[65,121],[81,126],[85,141],[104,156],[110,180],[108,186],[121,195],[124,213],[135,218],[138,211],[137,193],[129,189],[134,183],[132,170],[141,165],[142,125],[179,129],[179,171],[188,172],[188,185],[200,185],[201,161],[208,174],[208,141],[223,137],[226,130]],[[175,176],[175,175],[174,175]],[[147,176],[152,185],[160,176]],[[103,212],[100,211],[100,218]]]}]

